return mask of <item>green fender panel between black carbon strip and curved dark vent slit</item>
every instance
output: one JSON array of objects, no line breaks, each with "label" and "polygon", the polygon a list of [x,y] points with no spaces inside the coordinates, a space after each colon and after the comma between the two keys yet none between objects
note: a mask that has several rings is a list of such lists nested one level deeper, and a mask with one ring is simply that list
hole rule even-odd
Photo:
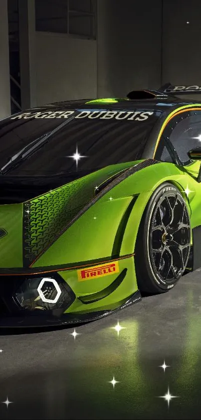
[{"label": "green fender panel between black carbon strip and curved dark vent slit", "polygon": [[110,256],[118,226],[132,197],[112,201],[109,197],[107,194],[91,206],[32,267],[50,265],[50,262],[51,265],[76,264]]}]

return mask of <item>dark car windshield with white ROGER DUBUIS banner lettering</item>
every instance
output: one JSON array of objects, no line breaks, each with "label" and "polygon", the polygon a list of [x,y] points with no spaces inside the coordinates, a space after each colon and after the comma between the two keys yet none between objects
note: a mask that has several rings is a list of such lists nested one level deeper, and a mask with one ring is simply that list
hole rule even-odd
[{"label": "dark car windshield with white ROGER DUBUIS banner lettering", "polygon": [[[0,168],[7,166],[7,176],[45,176],[141,159],[159,117],[159,112],[143,109],[17,114],[0,123]],[[47,140],[41,142],[43,136]],[[16,165],[9,167],[13,159]]]}]

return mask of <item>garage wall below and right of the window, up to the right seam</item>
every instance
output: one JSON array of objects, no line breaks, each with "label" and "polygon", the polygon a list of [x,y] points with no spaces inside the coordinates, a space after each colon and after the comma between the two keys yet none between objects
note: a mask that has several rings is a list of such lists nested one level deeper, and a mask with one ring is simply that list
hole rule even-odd
[{"label": "garage wall below and right of the window, up to the right seam", "polygon": [[37,104],[160,87],[161,16],[161,0],[98,0],[97,41],[36,32]]}]

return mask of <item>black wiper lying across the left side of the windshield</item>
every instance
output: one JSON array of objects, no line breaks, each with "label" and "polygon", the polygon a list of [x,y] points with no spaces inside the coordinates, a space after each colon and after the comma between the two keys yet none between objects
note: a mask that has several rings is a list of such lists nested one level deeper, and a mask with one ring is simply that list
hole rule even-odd
[{"label": "black wiper lying across the left side of the windshield", "polygon": [[15,153],[15,155],[11,156],[8,162],[0,168],[0,175],[6,174],[10,169],[15,168],[16,166],[20,165],[21,162],[32,156],[33,153],[37,152],[45,143],[48,143],[50,137],[60,131],[68,123],[70,123],[70,121],[72,121],[75,116],[76,113],[69,117],[67,121],[64,121],[64,123],[60,124],[58,127],[33,140],[27,146],[23,147],[17,153]]}]

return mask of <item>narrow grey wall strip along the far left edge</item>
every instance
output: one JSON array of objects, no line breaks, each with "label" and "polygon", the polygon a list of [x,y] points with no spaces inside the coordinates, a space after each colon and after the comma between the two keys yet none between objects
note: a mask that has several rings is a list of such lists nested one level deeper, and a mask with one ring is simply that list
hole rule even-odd
[{"label": "narrow grey wall strip along the far left edge", "polygon": [[10,115],[7,1],[0,0],[0,119]]}]

